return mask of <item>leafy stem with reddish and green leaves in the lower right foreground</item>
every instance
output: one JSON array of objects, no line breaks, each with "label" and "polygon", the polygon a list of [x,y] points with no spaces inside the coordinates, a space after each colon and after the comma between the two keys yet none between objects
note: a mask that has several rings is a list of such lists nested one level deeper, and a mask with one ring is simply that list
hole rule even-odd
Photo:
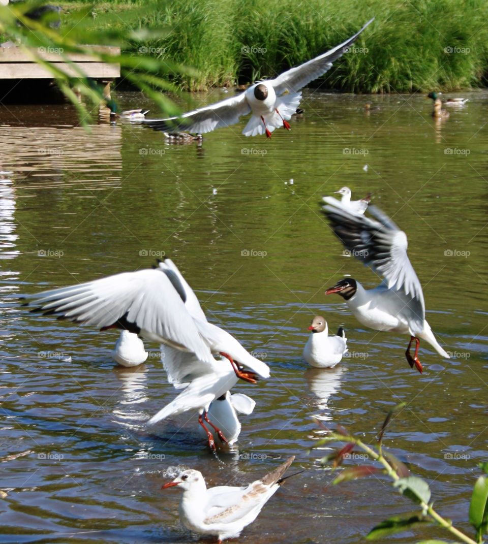
[{"label": "leafy stem with reddish and green leaves in the lower right foreground", "polygon": [[[429,484],[422,478],[412,476],[404,463],[397,459],[392,453],[383,450],[383,435],[386,427],[391,421],[392,416],[396,411],[404,407],[405,404],[399,404],[388,412],[388,415],[383,422],[381,430],[377,436],[377,446],[368,446],[361,438],[352,435],[343,426],[338,425],[335,431],[325,428],[327,434],[322,438],[315,447],[330,442],[345,442],[345,446],[334,450],[330,455],[325,456],[320,460],[322,464],[331,462],[333,468],[338,468],[345,459],[354,459],[354,448],[359,448],[369,459],[376,461],[377,465],[358,465],[345,468],[333,481],[332,484],[340,484],[345,481],[364,478],[374,474],[386,474],[392,479],[392,485],[395,489],[410,498],[415,504],[420,507],[419,512],[412,512],[404,516],[391,517],[371,529],[366,536],[367,540],[375,540],[387,535],[398,533],[405,529],[410,529],[413,526],[418,526],[423,523],[436,523],[438,526],[452,533],[458,542],[466,544],[483,544],[483,535],[488,529],[488,478],[482,475],[474,484],[474,489],[469,506],[469,522],[476,531],[475,540],[454,527],[452,521],[447,520],[439,514],[430,502],[431,491]],[[318,422],[321,424],[321,422]],[[324,427],[322,425],[322,427]],[[358,455],[358,458],[365,457]],[[480,463],[480,468],[488,474],[488,462]],[[447,544],[440,540],[422,541],[419,544]]]}]

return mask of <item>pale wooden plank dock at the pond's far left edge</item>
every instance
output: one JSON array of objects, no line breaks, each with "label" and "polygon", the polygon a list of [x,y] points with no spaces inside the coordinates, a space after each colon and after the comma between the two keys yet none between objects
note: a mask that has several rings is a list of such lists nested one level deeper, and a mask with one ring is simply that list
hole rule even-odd
[{"label": "pale wooden plank dock at the pond's far left edge", "polygon": [[[94,51],[108,54],[119,54],[120,47],[91,46]],[[62,51],[52,47],[39,47],[32,50],[43,60],[50,61],[53,66],[63,70],[71,77],[80,77],[78,70],[84,75],[96,79],[105,87],[105,96],[110,96],[110,83],[120,77],[120,65],[100,62],[89,54],[69,53],[65,58]],[[73,63],[73,64],[71,64]],[[20,47],[0,46],[0,80],[5,79],[54,79],[52,73],[44,66],[36,63],[31,54]],[[33,88],[35,91],[35,88]]]}]

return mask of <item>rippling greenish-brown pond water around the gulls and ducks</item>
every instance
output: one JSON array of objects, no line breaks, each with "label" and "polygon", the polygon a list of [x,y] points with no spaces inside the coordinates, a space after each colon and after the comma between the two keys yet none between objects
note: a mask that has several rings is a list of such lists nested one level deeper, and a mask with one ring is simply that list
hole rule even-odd
[{"label": "rippling greenish-brown pond water around the gulls and ducks", "polygon": [[[242,485],[291,454],[306,471],[239,541],[360,542],[414,507],[382,477],[330,485],[334,474],[318,462],[327,452],[308,453],[321,436],[314,418],[374,444],[400,401],[385,446],[429,482],[437,510],[470,531],[477,463],[488,460],[488,92],[463,95],[468,105],[437,124],[423,96],[308,91],[291,132],[245,138],[243,121],[202,146],[120,122],[87,133],[66,105],[0,109],[0,542],[194,542],[178,521],[178,491],[160,490],[168,467]],[[118,98],[157,116],[140,94]],[[320,213],[321,196],[344,185],[353,197],[370,192],[407,233],[428,320],[454,353],[443,360],[422,342],[423,375],[405,360],[407,337],[364,329],[339,296],[324,294],[345,274],[367,287],[379,281],[343,255]],[[145,426],[175,396],[157,345],[146,344],[142,367],[123,369],[110,358],[116,331],[17,302],[162,255],[209,320],[271,367],[269,380],[234,388],[257,405],[242,416],[236,447],[217,456],[194,414]],[[350,356],[333,369],[302,360],[315,314],[349,339]],[[443,536],[421,528],[386,540]]]}]

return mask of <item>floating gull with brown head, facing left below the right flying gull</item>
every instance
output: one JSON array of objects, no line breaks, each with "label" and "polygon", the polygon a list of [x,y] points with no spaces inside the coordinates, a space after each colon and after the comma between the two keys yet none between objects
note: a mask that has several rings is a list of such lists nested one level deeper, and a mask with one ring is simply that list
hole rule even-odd
[{"label": "floating gull with brown head, facing left below the right flying gull", "polygon": [[308,327],[310,336],[303,348],[303,358],[316,368],[335,367],[347,351],[344,329],[339,327],[337,335],[328,336],[328,326],[322,316],[315,316]]}]

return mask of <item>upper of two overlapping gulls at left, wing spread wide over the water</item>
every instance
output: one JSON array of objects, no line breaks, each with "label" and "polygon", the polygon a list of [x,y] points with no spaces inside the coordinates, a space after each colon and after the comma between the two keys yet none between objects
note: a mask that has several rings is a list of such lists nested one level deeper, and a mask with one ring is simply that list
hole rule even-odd
[{"label": "upper of two overlapping gulls at left, wing spread wide over the water", "polygon": [[[168,262],[167,259],[166,262]],[[171,261],[169,261],[171,262]],[[26,295],[25,306],[33,312],[55,314],[100,327],[101,330],[125,329],[149,341],[169,345],[194,354],[198,367],[215,362],[212,354],[227,358],[238,378],[255,383],[255,374],[268,378],[267,364],[253,357],[227,331],[194,316],[185,305],[196,296],[174,263],[154,269],[124,272],[100,280]],[[198,300],[197,300],[198,303]],[[239,364],[252,370],[241,370]],[[187,369],[180,369],[182,375]]]}]

